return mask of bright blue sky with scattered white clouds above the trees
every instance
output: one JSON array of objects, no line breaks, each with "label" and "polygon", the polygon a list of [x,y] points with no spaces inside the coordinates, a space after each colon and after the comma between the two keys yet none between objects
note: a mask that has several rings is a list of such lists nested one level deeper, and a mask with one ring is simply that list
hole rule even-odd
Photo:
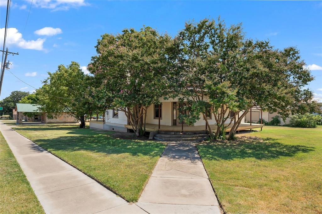
[{"label": "bright blue sky with scattered white clouds above the trees", "polygon": [[[322,97],[321,1],[33,0],[26,25],[30,5],[31,0],[12,1],[7,47],[19,52],[8,57],[10,71],[36,88],[60,64],[77,61],[87,66],[101,34],[146,25],[174,36],[188,20],[220,15],[227,25],[242,22],[248,38],[269,39],[279,49],[296,46],[316,78],[308,88]],[[0,6],[4,28],[6,1],[0,0]],[[6,70],[0,99],[14,90],[33,88]]]}]

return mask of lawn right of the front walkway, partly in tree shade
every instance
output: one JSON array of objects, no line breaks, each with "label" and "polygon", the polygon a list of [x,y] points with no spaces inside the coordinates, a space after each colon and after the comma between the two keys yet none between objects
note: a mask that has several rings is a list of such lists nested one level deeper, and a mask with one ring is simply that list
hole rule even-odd
[{"label": "lawn right of the front walkway, partly in tree shade", "polygon": [[322,213],[322,126],[198,145],[227,213]]}]

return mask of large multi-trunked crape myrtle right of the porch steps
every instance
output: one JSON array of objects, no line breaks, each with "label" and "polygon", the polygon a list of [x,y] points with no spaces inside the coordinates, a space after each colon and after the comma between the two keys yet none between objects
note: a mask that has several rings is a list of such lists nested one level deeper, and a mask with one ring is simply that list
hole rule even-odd
[{"label": "large multi-trunked crape myrtle right of the porch steps", "polygon": [[[190,125],[202,114],[211,138],[224,136],[240,114],[229,133],[232,139],[253,106],[277,111],[284,119],[290,112],[311,107],[312,92],[303,86],[313,78],[293,47],[278,50],[268,41],[246,40],[241,24],[226,28],[219,18],[217,23],[208,19],[186,23],[175,40],[181,51],[176,63],[180,111],[189,111],[179,118]],[[209,112],[217,125],[215,136]]]}]

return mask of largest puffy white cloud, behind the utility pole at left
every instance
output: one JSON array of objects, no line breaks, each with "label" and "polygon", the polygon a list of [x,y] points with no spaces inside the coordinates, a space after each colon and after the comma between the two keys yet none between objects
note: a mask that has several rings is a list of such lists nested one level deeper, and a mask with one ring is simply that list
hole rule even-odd
[{"label": "largest puffy white cloud, behind the utility pole at left", "polygon": [[[5,28],[0,29],[0,42],[3,43]],[[15,45],[23,49],[43,50],[43,43],[46,39],[24,40],[22,34],[16,28],[8,28],[6,44]]]}]

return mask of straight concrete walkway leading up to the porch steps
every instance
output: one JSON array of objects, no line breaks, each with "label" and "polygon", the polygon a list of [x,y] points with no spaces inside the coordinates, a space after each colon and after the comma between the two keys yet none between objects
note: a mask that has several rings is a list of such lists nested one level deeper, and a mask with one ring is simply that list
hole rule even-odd
[{"label": "straight concrete walkway leading up to the porch steps", "polygon": [[193,143],[169,143],[137,205],[148,213],[220,213]]}]

